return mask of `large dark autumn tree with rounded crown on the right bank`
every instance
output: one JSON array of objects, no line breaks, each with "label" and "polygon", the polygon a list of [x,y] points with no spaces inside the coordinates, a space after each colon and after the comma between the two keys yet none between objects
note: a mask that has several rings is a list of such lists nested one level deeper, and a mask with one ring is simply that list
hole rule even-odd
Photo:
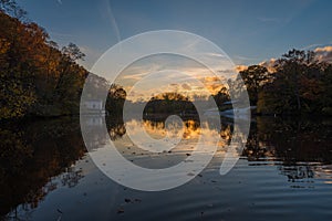
[{"label": "large dark autumn tree with rounded crown on the right bank", "polygon": [[322,114],[331,106],[331,64],[311,51],[291,50],[277,60],[273,81],[258,96],[258,112]]}]

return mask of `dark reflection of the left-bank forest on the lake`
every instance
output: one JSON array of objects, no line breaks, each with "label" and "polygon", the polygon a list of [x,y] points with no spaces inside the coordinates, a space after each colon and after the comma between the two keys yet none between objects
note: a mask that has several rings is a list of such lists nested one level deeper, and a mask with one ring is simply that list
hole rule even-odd
[{"label": "dark reflection of the left-bank forest on the lake", "polygon": [[[27,211],[37,208],[56,189],[51,177],[85,152],[80,125],[73,119],[1,125],[0,139],[0,215],[14,212],[19,204]],[[70,178],[62,182],[72,186],[82,175]]]}]

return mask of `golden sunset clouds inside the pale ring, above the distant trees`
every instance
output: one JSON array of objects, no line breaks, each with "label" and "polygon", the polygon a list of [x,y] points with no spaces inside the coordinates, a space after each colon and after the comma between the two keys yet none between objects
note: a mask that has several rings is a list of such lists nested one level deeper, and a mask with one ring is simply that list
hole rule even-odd
[{"label": "golden sunset clouds inside the pale ring, above the distant trees", "polygon": [[[188,98],[207,99],[226,86],[226,77],[222,75],[232,74],[231,71],[220,67],[221,71],[217,75],[195,61],[173,60],[169,57],[163,60],[159,56],[149,57],[148,62],[138,61],[124,70],[117,76],[116,83],[125,88],[127,99],[133,102],[148,101],[165,92],[176,92]],[[165,70],[167,73],[163,73]]]}]

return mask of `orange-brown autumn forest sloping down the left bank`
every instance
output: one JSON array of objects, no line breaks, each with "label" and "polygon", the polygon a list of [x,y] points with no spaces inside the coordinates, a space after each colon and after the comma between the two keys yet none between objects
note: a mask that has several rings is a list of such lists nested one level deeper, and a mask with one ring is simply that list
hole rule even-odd
[{"label": "orange-brown autumn forest sloping down the left bank", "polygon": [[[77,115],[90,74],[76,63],[84,53],[74,43],[60,49],[14,1],[0,3],[0,119]],[[123,101],[117,97],[122,91],[117,85],[110,88],[111,113]]]}]

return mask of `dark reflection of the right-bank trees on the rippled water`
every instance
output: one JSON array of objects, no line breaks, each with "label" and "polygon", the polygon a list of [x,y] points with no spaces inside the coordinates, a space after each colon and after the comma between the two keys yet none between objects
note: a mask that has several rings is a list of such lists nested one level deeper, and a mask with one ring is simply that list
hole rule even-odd
[{"label": "dark reflection of the right-bank trees on the rippled water", "polygon": [[257,117],[252,123],[246,149],[248,160],[283,161],[279,167],[289,181],[313,178],[310,162],[331,164],[330,122]]}]

